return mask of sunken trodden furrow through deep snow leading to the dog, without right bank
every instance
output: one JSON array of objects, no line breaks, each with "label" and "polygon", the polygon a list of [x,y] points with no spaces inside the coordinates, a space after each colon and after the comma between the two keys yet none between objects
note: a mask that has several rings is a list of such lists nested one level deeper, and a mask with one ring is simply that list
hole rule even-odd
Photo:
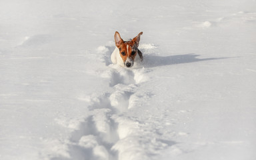
[{"label": "sunken trodden furrow through deep snow leading to the dog, without right bank", "polygon": [[[108,52],[109,49],[99,47],[98,51]],[[106,65],[109,64],[106,58],[103,61]],[[120,137],[129,135],[129,129],[123,129],[127,126],[123,126],[123,123],[119,125],[119,115],[131,108],[131,96],[136,92],[138,84],[145,79],[142,69],[124,69],[116,65],[109,65],[101,76],[109,79],[109,86],[113,91],[98,97],[93,95],[89,99],[92,103],[89,107],[90,115],[72,133],[67,144],[69,156],[52,159],[119,159],[119,147],[113,146]]]}]

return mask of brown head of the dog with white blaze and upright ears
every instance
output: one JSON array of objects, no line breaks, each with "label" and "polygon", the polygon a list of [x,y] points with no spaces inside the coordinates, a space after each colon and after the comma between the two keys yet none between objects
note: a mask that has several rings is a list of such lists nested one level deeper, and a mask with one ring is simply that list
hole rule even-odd
[{"label": "brown head of the dog with white blaze and upright ears", "polygon": [[130,41],[123,41],[119,33],[115,32],[115,45],[119,48],[119,54],[125,67],[133,67],[134,59],[138,54],[139,39],[143,32],[139,33]]}]

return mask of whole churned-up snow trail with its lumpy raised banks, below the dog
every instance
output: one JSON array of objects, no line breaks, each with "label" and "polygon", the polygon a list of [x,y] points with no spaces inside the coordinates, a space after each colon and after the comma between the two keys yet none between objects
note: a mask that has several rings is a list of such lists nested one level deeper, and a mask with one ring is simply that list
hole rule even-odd
[{"label": "whole churned-up snow trail with its lumpy raised banks, below the dog", "polygon": [[[147,46],[147,45],[146,45]],[[109,47],[111,49],[111,47]],[[109,54],[107,47],[99,47],[98,51]],[[167,143],[152,139],[151,133],[147,138],[143,125],[133,117],[123,113],[137,106],[140,96],[135,94],[141,83],[148,80],[143,67],[125,69],[117,65],[109,65],[107,57],[103,56],[106,69],[101,71],[101,77],[109,79],[111,92],[102,95],[91,95],[88,101],[89,117],[82,121],[77,130],[73,131],[67,144],[67,154],[56,159],[99,159],[99,160],[129,160],[150,159],[150,151],[167,147]],[[144,94],[146,97],[149,93]],[[155,137],[155,136],[154,136]],[[147,144],[147,149],[145,149]],[[65,151],[64,151],[65,152]],[[135,154],[136,153],[136,154]]]}]

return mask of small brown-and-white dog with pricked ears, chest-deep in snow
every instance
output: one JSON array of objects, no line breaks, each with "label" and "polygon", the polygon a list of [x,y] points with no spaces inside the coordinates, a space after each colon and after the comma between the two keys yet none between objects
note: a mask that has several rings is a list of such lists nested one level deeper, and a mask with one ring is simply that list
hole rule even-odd
[{"label": "small brown-and-white dog with pricked ears, chest-deep in snow", "polygon": [[[143,55],[139,51],[139,40],[143,32],[139,33],[129,41],[123,41],[119,33],[115,32],[115,50],[111,54],[111,61],[113,64],[121,65],[122,67],[133,67],[133,64],[143,61]],[[139,56],[138,56],[139,55]]]}]

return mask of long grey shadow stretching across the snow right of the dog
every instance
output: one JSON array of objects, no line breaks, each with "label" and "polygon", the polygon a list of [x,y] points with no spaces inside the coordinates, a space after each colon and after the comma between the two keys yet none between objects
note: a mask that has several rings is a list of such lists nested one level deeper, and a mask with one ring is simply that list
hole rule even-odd
[{"label": "long grey shadow stretching across the snow right of the dog", "polygon": [[214,57],[214,58],[205,58],[198,59],[200,55],[190,53],[185,55],[169,55],[166,57],[157,56],[157,55],[143,55],[143,66],[144,67],[159,67],[165,65],[177,65],[182,63],[193,63],[199,61],[212,61],[217,59],[227,59],[229,57]]}]

